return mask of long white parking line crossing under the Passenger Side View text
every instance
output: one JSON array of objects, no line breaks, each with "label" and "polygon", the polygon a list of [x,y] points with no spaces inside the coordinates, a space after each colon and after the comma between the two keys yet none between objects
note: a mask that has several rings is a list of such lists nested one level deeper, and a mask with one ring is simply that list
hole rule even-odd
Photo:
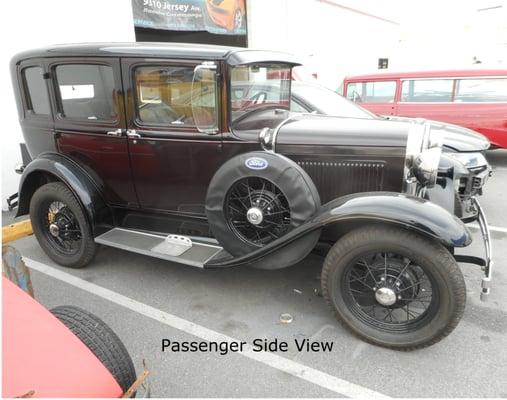
[{"label": "long white parking line crossing under the Passenger Side View text", "polygon": [[[187,321],[186,319],[177,317],[176,315],[169,314],[165,311],[159,310],[155,307],[141,303],[137,300],[131,299],[130,297],[124,296],[120,293],[113,292],[112,290],[106,289],[102,286],[94,283],[85,281],[84,279],[78,278],[67,272],[60,271],[57,268],[53,268],[49,265],[41,262],[32,260],[27,257],[23,257],[27,267],[41,272],[45,275],[51,276],[52,278],[58,279],[59,281],[68,283],[69,285],[75,286],[88,293],[92,293],[96,296],[102,297],[105,300],[109,300],[112,303],[118,304],[122,307],[128,308],[138,314],[144,315],[145,317],[152,318],[162,324],[168,325],[172,328],[178,329],[190,335],[196,336],[206,341],[226,341],[226,342],[237,342],[239,340],[222,333],[213,331],[204,326],[198,325],[194,322]],[[308,367],[300,364],[293,360],[278,356],[274,353],[269,352],[254,352],[251,345],[246,345],[244,351],[240,352],[243,356],[252,360],[258,361],[271,368],[278,369],[287,374],[303,379],[307,382],[318,385],[322,388],[352,398],[377,398],[377,399],[389,399],[382,393],[374,390],[362,387],[352,382],[348,382],[344,379],[337,378],[336,376],[329,375],[325,372],[317,369]]]}]

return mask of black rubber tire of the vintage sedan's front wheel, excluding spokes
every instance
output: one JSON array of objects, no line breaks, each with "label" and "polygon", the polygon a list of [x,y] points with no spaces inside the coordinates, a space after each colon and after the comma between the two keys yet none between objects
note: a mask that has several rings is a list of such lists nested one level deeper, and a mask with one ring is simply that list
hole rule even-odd
[{"label": "black rubber tire of the vintage sedan's front wheel, excluding spokes", "polygon": [[[340,288],[348,265],[360,254],[376,251],[404,255],[433,276],[438,309],[425,325],[410,332],[382,331],[359,320],[347,306]],[[345,328],[369,343],[395,350],[414,350],[442,340],[457,326],[466,303],[463,274],[451,253],[426,237],[389,226],[358,228],[338,240],[324,261],[321,284],[323,297]]]}]

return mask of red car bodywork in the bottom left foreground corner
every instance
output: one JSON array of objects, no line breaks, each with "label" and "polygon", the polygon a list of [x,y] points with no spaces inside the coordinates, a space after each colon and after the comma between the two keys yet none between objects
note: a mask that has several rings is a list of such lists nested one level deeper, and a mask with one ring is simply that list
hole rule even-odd
[{"label": "red car bodywork in the bottom left foreground corner", "polygon": [[63,323],[2,278],[2,395],[120,397],[111,373]]}]

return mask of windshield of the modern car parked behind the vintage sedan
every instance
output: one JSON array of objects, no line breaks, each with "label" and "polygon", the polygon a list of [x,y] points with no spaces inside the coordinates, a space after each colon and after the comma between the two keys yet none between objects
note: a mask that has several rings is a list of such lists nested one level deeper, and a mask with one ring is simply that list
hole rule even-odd
[{"label": "windshield of the modern car parked behind the vintage sedan", "polygon": [[295,97],[309,103],[317,112],[350,118],[376,118],[375,114],[359,107],[338,93],[324,86],[305,83],[294,83],[292,92]]}]

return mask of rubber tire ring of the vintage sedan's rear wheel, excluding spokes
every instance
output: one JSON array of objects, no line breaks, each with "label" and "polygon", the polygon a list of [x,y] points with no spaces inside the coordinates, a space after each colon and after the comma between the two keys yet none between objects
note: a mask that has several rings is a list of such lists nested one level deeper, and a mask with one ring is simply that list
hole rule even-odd
[{"label": "rubber tire ring of the vintage sedan's rear wheel, excluding spokes", "polygon": [[[61,201],[66,204],[76,217],[81,228],[82,244],[76,254],[68,255],[59,252],[47,240],[42,226],[43,213],[47,212],[46,206],[53,201]],[[62,182],[47,183],[38,188],[30,200],[30,219],[32,229],[44,252],[56,263],[70,268],[82,268],[95,256],[96,244],[93,240],[92,230],[81,204],[70,189]]]}]

